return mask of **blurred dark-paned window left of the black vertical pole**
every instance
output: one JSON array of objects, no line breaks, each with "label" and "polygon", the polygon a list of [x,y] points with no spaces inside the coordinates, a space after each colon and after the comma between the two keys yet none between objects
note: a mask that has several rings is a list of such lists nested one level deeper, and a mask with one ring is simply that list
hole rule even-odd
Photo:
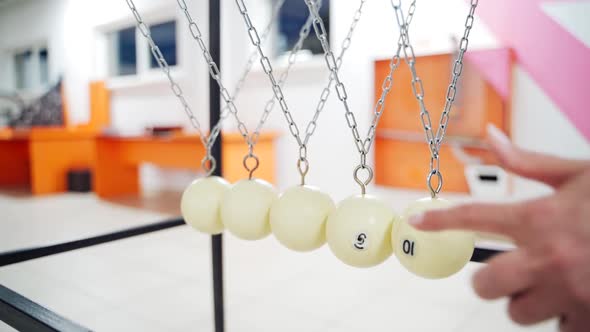
[{"label": "blurred dark-paned window left of the black vertical pole", "polygon": [[[153,24],[149,28],[152,39],[160,48],[168,65],[176,66],[176,21]],[[148,42],[135,26],[113,31],[108,38],[110,76],[138,75],[158,68]]]}]

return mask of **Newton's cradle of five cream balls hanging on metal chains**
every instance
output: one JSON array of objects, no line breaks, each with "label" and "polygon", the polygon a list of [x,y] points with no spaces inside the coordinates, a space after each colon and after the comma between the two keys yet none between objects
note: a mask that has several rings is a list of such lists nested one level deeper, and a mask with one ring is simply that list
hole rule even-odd
[{"label": "Newton's cradle of five cream balls hanging on metal chains", "polygon": [[[475,235],[458,230],[423,232],[415,229],[408,220],[411,216],[424,211],[447,208],[452,205],[451,202],[438,197],[443,186],[443,174],[439,167],[439,150],[457,93],[457,85],[463,69],[463,57],[467,51],[478,1],[472,0],[470,3],[463,37],[460,39],[445,96],[444,110],[435,125],[425,107],[422,80],[416,68],[416,58],[410,39],[416,0],[411,1],[406,9],[402,8],[399,0],[391,0],[389,4],[377,2],[373,4],[386,5],[389,8],[391,19],[397,23],[399,39],[397,43],[394,43],[397,51],[390,59],[389,73],[382,83],[380,98],[374,105],[371,124],[365,135],[361,134],[355,115],[364,110],[353,110],[349,106],[347,90],[340,78],[339,69],[343,65],[347,49],[352,44],[354,30],[362,19],[363,6],[367,1],[359,0],[348,34],[342,41],[338,54],[335,54],[330,45],[324,22],[319,15],[322,0],[299,1],[305,2],[308,18],[301,26],[299,39],[288,55],[286,70],[277,77],[270,59],[265,54],[263,44],[285,0],[275,3],[270,23],[263,30],[259,30],[251,18],[247,1],[235,0],[236,10],[242,16],[243,24],[248,32],[247,38],[254,50],[249,55],[241,78],[230,92],[222,82],[219,67],[219,20],[216,22],[217,30],[210,31],[210,36],[216,43],[210,43],[208,47],[201,27],[190,14],[189,6],[184,0],[177,0],[178,7],[184,15],[185,24],[194,42],[199,46],[209,71],[210,103],[212,109],[217,109],[217,114],[211,114],[210,129],[206,133],[191,105],[186,101],[181,86],[175,81],[158,45],[152,39],[148,25],[140,14],[141,10],[135,6],[133,0],[127,0],[129,9],[137,21],[138,30],[146,38],[152,55],[169,80],[172,93],[177,97],[179,105],[186,112],[192,126],[198,131],[201,143],[205,147],[206,156],[201,162],[205,175],[197,178],[186,188],[180,202],[184,220],[194,229],[213,235],[213,245],[214,248],[217,246],[218,250],[221,250],[220,234],[224,230],[238,238],[250,241],[262,239],[272,233],[282,245],[294,251],[312,251],[327,243],[339,260],[354,267],[372,267],[395,255],[405,268],[420,277],[439,279],[457,273],[474,256]],[[214,17],[211,20],[214,20]],[[300,119],[296,121],[298,114],[292,112],[289,99],[283,94],[283,87],[288,80],[290,69],[296,64],[303,41],[310,34],[315,35],[321,43],[330,77],[325,88],[318,93],[317,107],[313,117],[303,126]],[[210,48],[211,45],[213,48]],[[269,89],[268,101],[260,109],[259,122],[256,127],[248,128],[240,118],[243,111],[236,106],[234,100],[254,65],[262,67],[271,89]],[[412,85],[419,109],[416,113],[416,121],[419,121],[424,129],[425,148],[430,151],[430,171],[426,174],[425,183],[431,195],[411,203],[401,214],[397,214],[379,198],[367,193],[367,186],[373,178],[373,170],[367,155],[375,139],[376,127],[383,114],[387,96],[390,90],[395,88],[393,73],[396,68],[404,65],[410,69],[412,80],[395,82],[395,84]],[[214,85],[217,87],[213,87]],[[312,146],[310,141],[318,127],[321,130],[321,123],[318,120],[331,94],[335,94],[340,101],[339,108],[344,112],[342,125],[349,127],[353,138],[352,143],[359,157],[359,163],[352,170],[352,175],[353,180],[359,184],[360,193],[337,204],[318,188],[308,185],[305,179],[310,170],[307,159],[308,149]],[[220,100],[223,100],[223,105],[219,104]],[[256,179],[255,176],[259,164],[264,162],[256,155],[256,143],[269,114],[277,106],[299,147],[298,151],[294,152],[293,164],[301,179],[299,183],[293,184],[280,195],[271,184]],[[216,144],[222,122],[230,120],[235,121],[244,143],[248,146],[248,153],[243,158],[243,167],[248,171],[249,176],[234,184],[228,183],[221,177],[221,165],[218,164],[220,147]],[[218,257],[218,259],[221,258]]]}]

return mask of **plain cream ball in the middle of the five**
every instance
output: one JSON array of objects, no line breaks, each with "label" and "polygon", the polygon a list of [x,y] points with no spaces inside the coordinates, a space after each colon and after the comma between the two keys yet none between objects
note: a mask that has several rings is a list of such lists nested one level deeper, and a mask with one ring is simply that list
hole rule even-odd
[{"label": "plain cream ball in the middle of the five", "polygon": [[285,247],[311,251],[326,242],[326,219],[334,202],[315,187],[287,189],[270,208],[270,228]]}]

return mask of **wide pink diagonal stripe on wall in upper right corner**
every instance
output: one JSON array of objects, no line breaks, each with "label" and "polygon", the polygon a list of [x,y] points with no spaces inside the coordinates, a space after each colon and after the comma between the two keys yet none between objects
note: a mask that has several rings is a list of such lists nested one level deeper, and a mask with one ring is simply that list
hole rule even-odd
[{"label": "wide pink diagonal stripe on wall in upper right corner", "polygon": [[545,15],[542,2],[484,0],[476,13],[590,140],[590,49]]}]

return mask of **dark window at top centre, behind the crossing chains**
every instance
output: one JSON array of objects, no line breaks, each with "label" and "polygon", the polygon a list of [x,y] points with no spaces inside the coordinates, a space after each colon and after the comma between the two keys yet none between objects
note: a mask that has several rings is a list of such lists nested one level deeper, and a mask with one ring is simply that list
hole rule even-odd
[{"label": "dark window at top centre, behind the crossing chains", "polygon": [[[276,1],[276,0],[275,0]],[[324,21],[328,40],[330,39],[330,0],[323,0],[322,7],[319,10],[320,16]],[[278,54],[287,53],[293,48],[293,45],[299,39],[299,30],[307,21],[309,10],[304,1],[285,1],[279,11],[279,36],[278,36]],[[322,45],[315,35],[313,27],[309,36],[303,41],[304,50],[311,51],[312,54],[322,54]]]}]

